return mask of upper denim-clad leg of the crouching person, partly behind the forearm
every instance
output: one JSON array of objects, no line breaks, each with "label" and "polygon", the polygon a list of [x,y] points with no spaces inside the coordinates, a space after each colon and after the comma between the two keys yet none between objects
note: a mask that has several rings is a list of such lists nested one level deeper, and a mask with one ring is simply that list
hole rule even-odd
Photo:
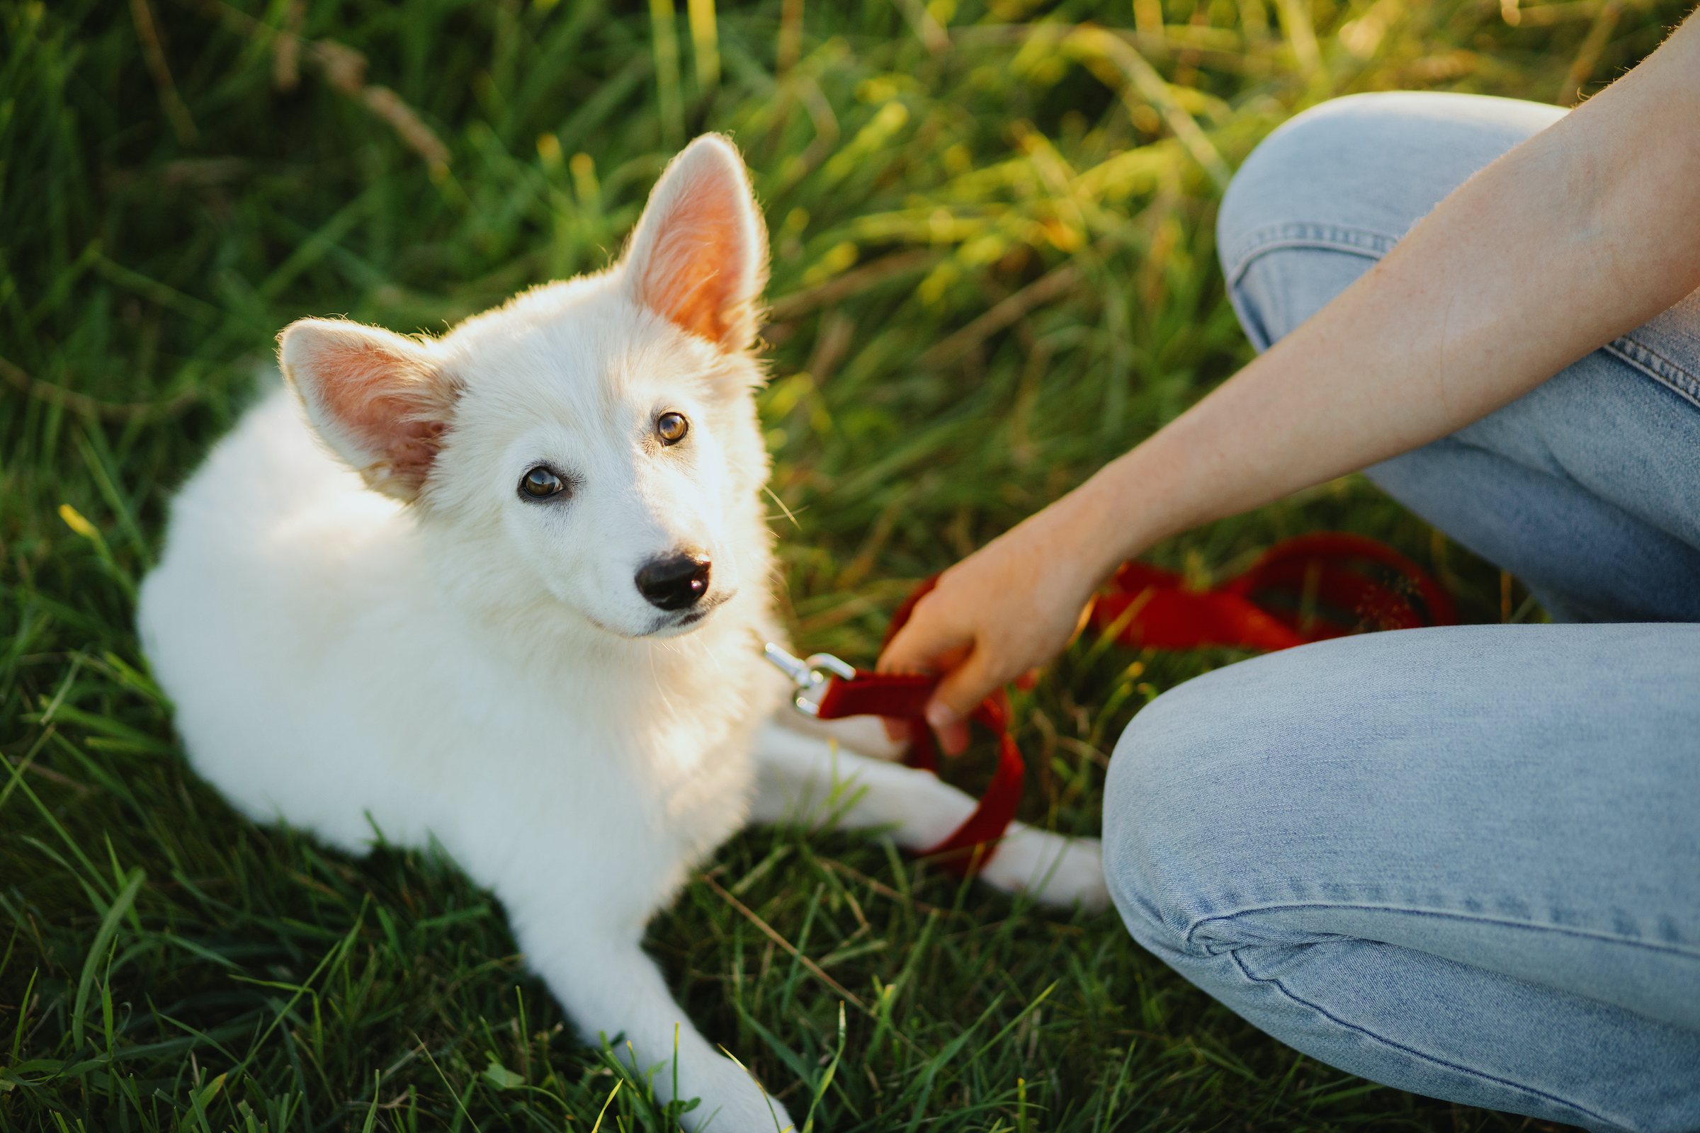
[{"label": "upper denim-clad leg of the crouching person, partly behind the forearm", "polygon": [[[1562,112],[1360,95],[1275,131],[1222,202],[1219,248],[1261,350],[1477,168]],[[1700,620],[1700,294],[1370,479],[1523,578],[1561,620]]]}]

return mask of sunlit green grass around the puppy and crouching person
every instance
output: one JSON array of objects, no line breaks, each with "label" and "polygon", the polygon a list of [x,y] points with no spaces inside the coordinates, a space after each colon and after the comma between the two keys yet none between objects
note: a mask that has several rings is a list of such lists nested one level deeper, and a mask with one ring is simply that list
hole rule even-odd
[{"label": "sunlit green grass around the puppy and crouching person", "polygon": [[[570,1038],[450,865],[250,826],[185,769],[131,632],[134,581],[172,486],[289,319],[440,328],[598,267],[672,149],[733,132],[774,233],[762,408],[796,515],[777,520],[790,623],[869,659],[913,579],[1248,357],[1214,202],[1275,124],[1370,88],[1574,100],[1680,15],[0,5],[0,1126],[590,1130],[605,1109],[604,1128],[673,1128]],[[1329,527],[1433,566],[1470,620],[1532,613],[1360,479],[1153,557],[1231,572]],[[1018,696],[1028,817],[1095,832],[1127,719],[1234,659],[1078,645]],[[1294,1055],[1114,914],[1035,912],[794,829],[746,832],[707,870],[654,921],[653,953],[702,1029],[816,1128],[1527,1125]]]}]

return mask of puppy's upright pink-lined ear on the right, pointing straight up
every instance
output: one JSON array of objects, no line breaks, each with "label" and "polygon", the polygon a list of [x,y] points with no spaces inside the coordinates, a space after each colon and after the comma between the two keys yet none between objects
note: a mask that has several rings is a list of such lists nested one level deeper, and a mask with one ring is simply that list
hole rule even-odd
[{"label": "puppy's upright pink-lined ear on the right, pointing straight up", "polygon": [[634,302],[721,350],[755,340],[767,228],[733,144],[704,134],[661,173],[626,248]]}]

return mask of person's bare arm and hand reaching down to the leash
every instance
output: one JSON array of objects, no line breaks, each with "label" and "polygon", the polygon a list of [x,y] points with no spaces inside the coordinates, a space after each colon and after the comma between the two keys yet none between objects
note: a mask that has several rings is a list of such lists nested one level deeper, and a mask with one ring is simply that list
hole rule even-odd
[{"label": "person's bare arm and hand reaching down to the leash", "polygon": [[945,571],[881,669],[947,673],[945,747],[1151,544],[1445,437],[1700,285],[1700,17],[1481,170],[1307,323]]}]

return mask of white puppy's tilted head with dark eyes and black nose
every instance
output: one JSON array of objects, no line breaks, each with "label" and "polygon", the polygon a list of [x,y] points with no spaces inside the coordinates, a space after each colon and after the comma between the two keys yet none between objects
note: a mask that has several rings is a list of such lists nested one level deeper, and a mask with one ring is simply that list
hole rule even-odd
[{"label": "white puppy's tilted head with dark eyes and black nose", "polygon": [[303,319],[279,338],[313,428],[416,508],[450,588],[620,637],[765,584],[750,396],[767,233],[721,138],[661,175],[626,255],[440,340]]}]

